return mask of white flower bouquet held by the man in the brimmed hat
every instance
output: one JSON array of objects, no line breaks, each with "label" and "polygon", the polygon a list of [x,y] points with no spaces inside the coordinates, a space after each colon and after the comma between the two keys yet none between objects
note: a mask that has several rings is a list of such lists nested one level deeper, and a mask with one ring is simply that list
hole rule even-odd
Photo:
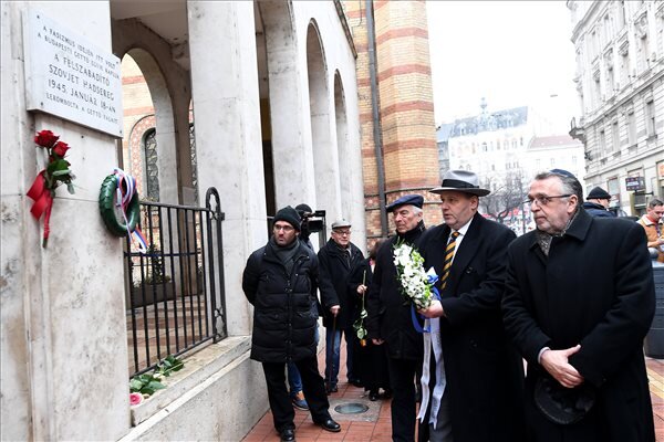
[{"label": "white flower bouquet held by the man in the brimmed hat", "polygon": [[405,242],[394,244],[393,256],[402,295],[417,309],[427,308],[434,299],[434,284],[438,281],[434,267],[425,272],[424,257]]}]

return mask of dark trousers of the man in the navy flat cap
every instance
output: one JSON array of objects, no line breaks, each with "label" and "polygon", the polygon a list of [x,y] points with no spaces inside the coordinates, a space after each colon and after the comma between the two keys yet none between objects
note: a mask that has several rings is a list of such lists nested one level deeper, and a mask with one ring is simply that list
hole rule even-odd
[{"label": "dark trousers of the man in the navy flat cap", "polygon": [[387,358],[390,385],[392,387],[392,440],[415,440],[415,372],[422,362]]}]

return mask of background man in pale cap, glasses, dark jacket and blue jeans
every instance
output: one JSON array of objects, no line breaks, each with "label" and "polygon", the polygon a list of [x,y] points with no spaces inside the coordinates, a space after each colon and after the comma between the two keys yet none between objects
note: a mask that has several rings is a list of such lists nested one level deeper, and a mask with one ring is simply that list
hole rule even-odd
[{"label": "background man in pale cap, glasses, dark jacket and blue jeans", "polygon": [[359,385],[360,379],[353,372],[353,349],[356,339],[353,333],[354,301],[349,297],[347,278],[351,270],[364,256],[355,244],[351,242],[351,223],[339,220],[332,223],[332,234],[318,254],[321,266],[321,281],[334,287],[339,299],[338,311],[328,311],[323,315],[325,333],[325,388],[328,392],[336,392],[339,377],[339,355],[341,351],[341,337],[346,341],[346,375],[349,382]]}]

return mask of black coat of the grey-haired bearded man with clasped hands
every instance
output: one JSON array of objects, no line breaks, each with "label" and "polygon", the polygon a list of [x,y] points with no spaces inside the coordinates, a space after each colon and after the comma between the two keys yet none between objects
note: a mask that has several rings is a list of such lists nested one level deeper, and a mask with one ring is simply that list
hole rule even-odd
[{"label": "black coat of the grey-haired bearded man with clasped hands", "polygon": [[[526,411],[538,441],[654,442],[643,338],[655,312],[652,265],[641,225],[592,218],[580,209],[549,255],[536,231],[508,250],[504,322],[528,361]],[[569,362],[596,388],[590,412],[573,425],[548,421],[533,388],[546,370],[543,347],[580,344]]]}]

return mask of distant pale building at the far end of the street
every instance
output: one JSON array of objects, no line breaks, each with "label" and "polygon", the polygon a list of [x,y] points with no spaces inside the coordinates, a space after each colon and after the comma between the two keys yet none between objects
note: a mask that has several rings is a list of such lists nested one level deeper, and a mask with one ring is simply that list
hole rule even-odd
[{"label": "distant pale building at the far end of the street", "polygon": [[523,200],[530,181],[553,168],[581,179],[583,145],[569,135],[542,136],[542,122],[529,106],[488,112],[483,99],[480,108],[479,115],[440,125],[439,155],[448,155],[450,169],[476,172],[481,186],[491,190],[480,199],[485,217],[507,224],[517,234],[525,233],[530,208]]}]

